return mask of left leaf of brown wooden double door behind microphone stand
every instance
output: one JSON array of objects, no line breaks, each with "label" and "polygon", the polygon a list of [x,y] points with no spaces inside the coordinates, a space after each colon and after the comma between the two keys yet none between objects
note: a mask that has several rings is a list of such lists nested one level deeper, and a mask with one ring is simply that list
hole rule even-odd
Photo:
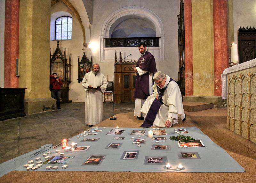
[{"label": "left leaf of brown wooden double door behind microphone stand", "polygon": [[131,73],[122,73],[122,102],[131,103]]}]

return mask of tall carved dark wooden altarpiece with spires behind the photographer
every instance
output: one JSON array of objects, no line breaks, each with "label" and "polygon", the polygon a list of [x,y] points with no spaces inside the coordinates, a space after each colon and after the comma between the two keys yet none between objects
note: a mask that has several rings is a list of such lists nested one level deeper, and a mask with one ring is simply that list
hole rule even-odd
[{"label": "tall carved dark wooden altarpiece with spires behind the photographer", "polygon": [[[50,75],[53,73],[57,73],[59,78],[62,81],[62,86],[60,87],[60,102],[61,103],[69,103],[72,102],[68,99],[68,91],[70,80],[70,67],[71,67],[71,59],[69,54],[69,60],[66,58],[66,48],[64,48],[64,54],[62,54],[59,48],[59,40],[57,40],[57,48],[55,49],[53,55],[51,55],[50,48]],[[68,62],[67,62],[68,60]]]}]

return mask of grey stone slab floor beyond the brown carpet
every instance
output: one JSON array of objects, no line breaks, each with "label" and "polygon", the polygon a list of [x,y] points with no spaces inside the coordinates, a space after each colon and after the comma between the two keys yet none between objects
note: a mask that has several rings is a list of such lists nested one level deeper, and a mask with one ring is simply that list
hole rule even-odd
[{"label": "grey stone slab floor beyond the brown carpet", "polygon": [[[112,106],[113,103],[104,103],[103,120],[113,116]],[[114,114],[132,111],[134,103],[114,104]],[[86,128],[84,103],[61,104],[60,110],[0,121],[0,163],[44,144],[56,145]]]}]

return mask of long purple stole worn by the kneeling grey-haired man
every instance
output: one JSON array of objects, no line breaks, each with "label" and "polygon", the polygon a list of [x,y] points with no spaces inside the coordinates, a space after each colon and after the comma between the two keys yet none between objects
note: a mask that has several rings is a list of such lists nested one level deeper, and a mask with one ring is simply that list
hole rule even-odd
[{"label": "long purple stole worn by the kneeling grey-haired man", "polygon": [[[169,83],[171,81],[174,81],[174,80],[172,78],[170,78]],[[144,127],[144,128],[152,127],[152,125],[156,119],[156,114],[157,114],[159,108],[164,104],[162,102],[161,98],[164,96],[164,91],[167,88],[167,86],[169,85],[169,83],[164,88],[159,88],[158,86],[156,86],[159,100],[155,99],[152,102],[152,104],[148,110],[148,114],[147,114],[146,118],[144,119],[144,122],[142,123],[142,125],[140,125],[140,127]]]}]

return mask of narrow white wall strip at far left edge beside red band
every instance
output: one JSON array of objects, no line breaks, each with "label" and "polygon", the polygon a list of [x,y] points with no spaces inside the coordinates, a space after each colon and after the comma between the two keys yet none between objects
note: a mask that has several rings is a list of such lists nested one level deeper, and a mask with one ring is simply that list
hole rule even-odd
[{"label": "narrow white wall strip at far left edge beside red band", "polygon": [[0,0],[0,87],[4,87],[4,20],[5,0]]}]

